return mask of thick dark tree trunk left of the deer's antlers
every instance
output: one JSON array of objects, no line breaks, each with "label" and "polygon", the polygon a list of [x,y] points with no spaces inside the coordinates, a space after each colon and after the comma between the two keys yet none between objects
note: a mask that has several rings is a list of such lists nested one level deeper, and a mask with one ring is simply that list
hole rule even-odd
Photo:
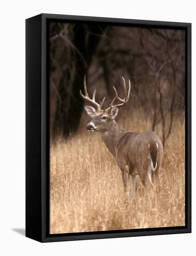
[{"label": "thick dark tree trunk left of the deer's antlers", "polygon": [[[73,51],[74,67],[63,70],[59,83],[60,98],[57,100],[57,110],[53,125],[53,136],[59,133],[67,136],[75,132],[82,115],[83,100],[80,89],[83,90],[84,75],[88,74],[89,66],[101,39],[104,27],[79,25],[74,27]],[[71,56],[72,57],[72,56]],[[66,56],[64,61],[66,61]]]}]

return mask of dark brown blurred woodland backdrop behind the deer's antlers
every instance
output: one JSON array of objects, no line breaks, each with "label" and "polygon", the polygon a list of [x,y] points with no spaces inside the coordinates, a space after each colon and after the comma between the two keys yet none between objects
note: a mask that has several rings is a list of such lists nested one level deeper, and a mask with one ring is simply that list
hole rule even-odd
[{"label": "dark brown blurred woodland backdrop behind the deer's antlers", "polygon": [[165,144],[174,113],[184,111],[184,41],[182,30],[51,24],[52,134],[76,131],[84,74],[89,74],[89,93],[99,87],[97,98],[107,94],[108,101],[114,96],[111,85],[118,88],[124,76],[132,81],[132,109],[152,116],[152,130],[161,125]]}]

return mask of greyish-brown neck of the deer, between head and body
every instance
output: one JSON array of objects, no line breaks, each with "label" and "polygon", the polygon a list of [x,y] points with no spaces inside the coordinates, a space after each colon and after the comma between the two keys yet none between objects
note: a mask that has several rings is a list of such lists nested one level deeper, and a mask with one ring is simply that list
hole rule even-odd
[{"label": "greyish-brown neck of the deer, between head and body", "polygon": [[104,141],[106,147],[114,157],[116,157],[117,145],[119,139],[125,131],[120,129],[117,123],[113,120],[109,130],[100,132],[101,138]]}]

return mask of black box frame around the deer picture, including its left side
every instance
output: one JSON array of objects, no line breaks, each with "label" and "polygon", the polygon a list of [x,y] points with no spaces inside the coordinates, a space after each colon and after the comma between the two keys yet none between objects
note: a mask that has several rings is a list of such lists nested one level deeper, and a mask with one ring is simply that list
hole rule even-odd
[{"label": "black box frame around the deer picture, including its left side", "polygon": [[[185,226],[49,234],[49,22],[185,30]],[[26,20],[26,236],[39,242],[86,240],[191,232],[191,23],[39,14]]]}]

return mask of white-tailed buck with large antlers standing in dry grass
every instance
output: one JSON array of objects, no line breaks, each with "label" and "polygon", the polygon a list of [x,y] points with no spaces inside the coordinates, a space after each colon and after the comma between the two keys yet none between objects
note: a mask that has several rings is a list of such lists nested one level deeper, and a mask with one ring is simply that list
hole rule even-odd
[{"label": "white-tailed buck with large antlers standing in dry grass", "polygon": [[[133,199],[136,198],[137,191],[137,175],[141,179],[144,187],[150,191],[155,188],[158,181],[161,163],[163,159],[163,145],[158,135],[155,132],[131,132],[125,131],[118,127],[115,118],[119,113],[119,108],[124,106],[130,96],[131,83],[129,81],[128,94],[126,91],[126,82],[123,79],[124,85],[124,99],[120,99],[116,89],[114,100],[111,102],[109,108],[101,109],[105,98],[98,104],[95,101],[96,90],[93,98],[90,99],[87,93],[86,76],[84,77],[84,92],[85,96],[80,90],[80,95],[85,101],[96,106],[85,106],[87,114],[92,120],[87,125],[87,130],[98,131],[104,141],[106,147],[116,158],[116,162],[122,171],[122,180],[124,184],[124,191],[129,196],[129,177],[132,176],[132,192]],[[119,104],[113,105],[114,101],[120,101]]]}]

